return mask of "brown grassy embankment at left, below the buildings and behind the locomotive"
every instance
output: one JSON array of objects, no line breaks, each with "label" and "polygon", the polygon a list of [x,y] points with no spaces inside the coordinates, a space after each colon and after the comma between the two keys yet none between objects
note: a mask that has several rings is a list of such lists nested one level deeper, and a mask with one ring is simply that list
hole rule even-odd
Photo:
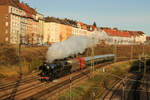
[{"label": "brown grassy embankment at left, below the buildings and behind the locomotive", "polygon": [[[21,46],[20,57],[16,45],[0,45],[0,79],[16,80],[20,73],[26,75],[45,61],[47,47]],[[22,70],[20,70],[20,67]]]}]

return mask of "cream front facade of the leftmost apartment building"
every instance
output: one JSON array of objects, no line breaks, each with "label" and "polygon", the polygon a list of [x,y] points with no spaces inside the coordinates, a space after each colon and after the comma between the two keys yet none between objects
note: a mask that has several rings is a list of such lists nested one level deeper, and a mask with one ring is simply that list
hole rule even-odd
[{"label": "cream front facade of the leftmost apartment building", "polygon": [[[25,35],[26,32],[26,19],[23,18],[25,12],[19,8],[9,6],[10,14],[10,43],[20,43],[21,35]],[[22,31],[21,31],[22,30]]]}]

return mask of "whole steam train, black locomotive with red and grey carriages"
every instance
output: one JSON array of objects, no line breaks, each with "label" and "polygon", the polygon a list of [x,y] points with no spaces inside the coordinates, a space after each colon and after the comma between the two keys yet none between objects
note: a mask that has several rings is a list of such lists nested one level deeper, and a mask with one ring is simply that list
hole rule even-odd
[{"label": "whole steam train, black locomotive with red and grey carriages", "polygon": [[[114,59],[114,54],[98,55],[90,57],[77,57],[69,60],[57,60],[52,63],[44,62],[39,67],[41,81],[52,81],[77,70],[82,70],[91,64],[100,64]],[[92,62],[92,63],[91,63]]]}]

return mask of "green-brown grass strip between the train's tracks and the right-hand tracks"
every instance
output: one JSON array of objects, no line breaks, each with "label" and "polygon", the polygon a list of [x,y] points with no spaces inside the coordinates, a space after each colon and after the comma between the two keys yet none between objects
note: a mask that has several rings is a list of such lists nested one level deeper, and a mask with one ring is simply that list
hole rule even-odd
[{"label": "green-brown grass strip between the train's tracks and the right-hand tracks", "polygon": [[[73,88],[71,90],[71,98],[74,100],[92,100],[92,94],[95,94],[94,99],[99,98],[105,91],[105,86],[109,87],[117,78],[111,76],[108,73],[115,74],[119,77],[125,75],[130,70],[132,64],[135,62],[122,62],[112,64],[107,72],[103,73],[102,70],[96,73],[93,79],[86,80],[83,84]],[[65,92],[59,97],[59,100],[69,100],[70,91]]]}]

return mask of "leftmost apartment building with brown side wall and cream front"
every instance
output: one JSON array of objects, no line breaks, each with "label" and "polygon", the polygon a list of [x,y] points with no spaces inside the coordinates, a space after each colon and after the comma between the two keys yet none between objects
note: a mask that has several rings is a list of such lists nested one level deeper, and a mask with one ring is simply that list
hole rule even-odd
[{"label": "leftmost apartment building with brown side wall and cream front", "polygon": [[[0,42],[11,44],[20,43],[22,17],[25,12],[17,5],[18,0],[1,0],[0,1]],[[23,33],[24,34],[24,33]]]}]

